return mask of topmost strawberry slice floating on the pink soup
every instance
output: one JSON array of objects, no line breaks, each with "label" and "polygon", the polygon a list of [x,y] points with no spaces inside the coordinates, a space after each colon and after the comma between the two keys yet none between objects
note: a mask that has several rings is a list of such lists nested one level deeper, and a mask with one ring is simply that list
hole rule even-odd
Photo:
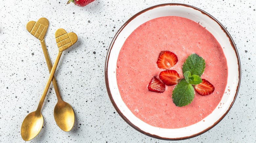
[{"label": "topmost strawberry slice floating on the pink soup", "polygon": [[170,52],[170,51],[161,51],[158,60],[157,60],[157,66],[160,69],[170,69],[178,62],[178,57]]}]

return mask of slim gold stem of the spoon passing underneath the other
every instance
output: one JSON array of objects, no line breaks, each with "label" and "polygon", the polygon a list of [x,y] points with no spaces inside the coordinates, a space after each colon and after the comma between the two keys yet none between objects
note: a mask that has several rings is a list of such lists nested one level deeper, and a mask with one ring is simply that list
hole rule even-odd
[{"label": "slim gold stem of the spoon passing underneath the other", "polygon": [[[49,70],[49,73],[50,73],[50,72],[52,71],[52,63],[51,63],[49,54],[48,54],[48,52],[47,52],[44,39],[43,39],[42,41],[40,40],[40,42],[41,42],[41,47],[42,47],[43,52],[44,52],[44,57],[45,57],[45,60],[46,60],[46,64],[47,64],[47,67],[48,67],[48,70]],[[58,88],[58,85],[57,85],[57,82],[56,82],[54,76],[53,76],[52,82],[53,82],[53,87],[54,87],[54,90],[55,90],[55,93],[56,93],[56,96],[57,96],[58,101],[59,101],[59,100],[62,100],[61,97],[60,97],[59,88]]]}]

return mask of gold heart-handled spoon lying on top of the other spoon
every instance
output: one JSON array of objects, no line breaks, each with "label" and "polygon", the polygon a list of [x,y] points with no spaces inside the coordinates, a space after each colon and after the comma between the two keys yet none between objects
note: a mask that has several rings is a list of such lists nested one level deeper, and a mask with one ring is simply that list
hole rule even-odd
[{"label": "gold heart-handled spoon lying on top of the other spoon", "polygon": [[50,87],[51,81],[53,80],[54,72],[57,68],[60,56],[64,50],[68,49],[70,46],[72,46],[77,41],[77,36],[73,32],[67,33],[64,29],[58,29],[55,32],[55,39],[57,42],[57,46],[59,48],[59,52],[58,52],[56,60],[53,64],[53,68],[51,70],[47,84],[43,91],[42,97],[39,101],[37,109],[34,112],[29,113],[25,117],[25,119],[23,120],[22,125],[21,125],[21,137],[25,141],[29,141],[29,140],[33,139],[36,135],[38,135],[38,133],[42,129],[44,119],[41,114],[41,109],[42,109],[42,105],[44,103],[46,94],[48,92],[48,89]]}]

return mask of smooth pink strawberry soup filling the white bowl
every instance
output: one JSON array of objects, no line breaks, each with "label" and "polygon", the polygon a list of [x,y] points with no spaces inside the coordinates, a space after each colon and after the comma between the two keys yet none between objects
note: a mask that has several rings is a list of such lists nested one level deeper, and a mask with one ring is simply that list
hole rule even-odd
[{"label": "smooth pink strawberry soup filling the white bowl", "polygon": [[[159,73],[157,67],[161,51],[171,51],[178,63],[171,68],[181,79],[182,64],[192,53],[203,57],[205,71],[201,78],[208,80],[215,90],[195,98],[187,106],[177,107],[172,101],[175,85],[166,86],[163,93],[151,92],[147,86]],[[145,123],[160,128],[182,128],[203,120],[218,106],[227,84],[227,62],[223,49],[200,24],[186,18],[167,16],[150,20],[124,42],[117,59],[117,85],[123,102]]]}]

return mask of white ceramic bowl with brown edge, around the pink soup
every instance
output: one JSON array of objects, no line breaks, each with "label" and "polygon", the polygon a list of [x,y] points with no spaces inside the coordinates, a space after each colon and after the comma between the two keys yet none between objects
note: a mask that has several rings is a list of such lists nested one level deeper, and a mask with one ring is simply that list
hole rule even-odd
[{"label": "white ceramic bowl with brown edge, around the pink soup", "polygon": [[[122,101],[116,80],[117,57],[126,38],[139,27],[139,25],[163,16],[180,16],[200,23],[211,32],[220,45],[224,47],[223,51],[228,66],[228,78],[225,91],[230,90],[230,94],[223,95],[221,99],[221,103],[224,103],[222,108],[216,107],[210,115],[203,119],[205,121],[201,120],[196,124],[178,129],[154,127],[138,119]],[[166,140],[181,140],[201,135],[219,123],[228,113],[235,101],[240,86],[240,74],[240,61],[237,49],[224,26],[203,10],[184,4],[157,5],[140,11],[131,17],[125,24],[123,24],[115,35],[110,45],[105,65],[107,91],[109,98],[119,115],[139,132],[151,137]]]}]

